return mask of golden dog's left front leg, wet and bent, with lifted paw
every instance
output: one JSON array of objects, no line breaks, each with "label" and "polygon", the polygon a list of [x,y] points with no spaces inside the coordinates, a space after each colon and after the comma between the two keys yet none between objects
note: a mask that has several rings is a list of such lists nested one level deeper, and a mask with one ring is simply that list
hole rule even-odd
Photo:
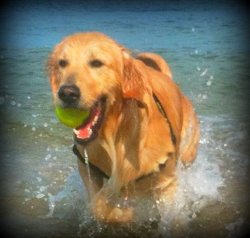
[{"label": "golden dog's left front leg, wet and bent, with lifted paw", "polygon": [[[104,173],[78,159],[78,169],[88,191],[91,210],[97,220],[109,223],[129,222],[133,218],[133,209],[123,205],[123,194],[107,180]],[[116,189],[115,189],[116,187]],[[118,201],[119,200],[119,201]]]}]

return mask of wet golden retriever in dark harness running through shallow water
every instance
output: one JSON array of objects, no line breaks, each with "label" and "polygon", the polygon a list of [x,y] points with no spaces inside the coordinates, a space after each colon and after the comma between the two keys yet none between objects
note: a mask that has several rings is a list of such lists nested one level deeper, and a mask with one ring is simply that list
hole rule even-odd
[{"label": "wet golden retriever in dark harness running through shallow water", "polygon": [[54,104],[90,111],[73,134],[95,217],[132,221],[133,207],[117,206],[116,198],[173,199],[176,163],[195,159],[199,122],[166,61],[132,57],[108,36],[86,32],[59,43],[48,65]]}]

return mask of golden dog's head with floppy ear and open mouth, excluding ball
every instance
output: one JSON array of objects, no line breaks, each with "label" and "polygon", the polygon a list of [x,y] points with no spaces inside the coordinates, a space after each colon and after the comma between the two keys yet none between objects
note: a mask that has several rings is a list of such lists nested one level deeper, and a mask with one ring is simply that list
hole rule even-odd
[{"label": "golden dog's head with floppy ear and open mouth, excluding ball", "polygon": [[66,37],[49,59],[49,78],[56,106],[89,110],[75,134],[79,142],[96,138],[105,114],[116,100],[142,100],[143,72],[129,53],[102,33]]}]

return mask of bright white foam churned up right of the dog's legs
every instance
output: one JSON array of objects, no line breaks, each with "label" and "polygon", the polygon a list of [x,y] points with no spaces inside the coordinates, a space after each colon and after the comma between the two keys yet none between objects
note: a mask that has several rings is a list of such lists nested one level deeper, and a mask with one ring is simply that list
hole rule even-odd
[{"label": "bright white foam churned up right of the dog's legs", "polygon": [[[204,140],[204,138],[202,139]],[[197,213],[212,200],[220,200],[218,191],[223,186],[223,178],[218,164],[209,160],[204,148],[200,148],[196,161],[189,168],[177,167],[178,187],[174,203],[161,204],[161,230],[170,230],[172,221],[185,227],[197,217]]]}]

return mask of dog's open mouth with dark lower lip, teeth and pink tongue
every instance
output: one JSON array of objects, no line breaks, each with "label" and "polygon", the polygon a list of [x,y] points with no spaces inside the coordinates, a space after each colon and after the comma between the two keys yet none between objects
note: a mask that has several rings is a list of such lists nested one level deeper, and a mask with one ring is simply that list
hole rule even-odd
[{"label": "dog's open mouth with dark lower lip, teeth and pink tongue", "polygon": [[102,97],[90,109],[90,115],[87,120],[79,127],[73,130],[74,139],[80,144],[86,144],[98,136],[98,131],[102,125],[105,113],[106,98]]}]

